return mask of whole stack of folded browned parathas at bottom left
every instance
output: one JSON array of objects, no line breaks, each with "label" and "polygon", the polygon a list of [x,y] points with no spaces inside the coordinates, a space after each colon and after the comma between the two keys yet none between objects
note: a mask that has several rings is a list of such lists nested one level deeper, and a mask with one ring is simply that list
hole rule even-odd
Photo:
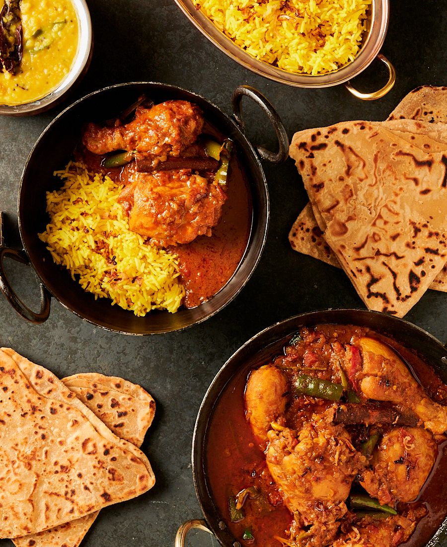
[{"label": "whole stack of folded browned parathas at bottom left", "polygon": [[78,547],[102,507],[154,485],[137,446],[155,401],[140,386],[98,374],[60,381],[2,348],[0,393],[1,538]]}]

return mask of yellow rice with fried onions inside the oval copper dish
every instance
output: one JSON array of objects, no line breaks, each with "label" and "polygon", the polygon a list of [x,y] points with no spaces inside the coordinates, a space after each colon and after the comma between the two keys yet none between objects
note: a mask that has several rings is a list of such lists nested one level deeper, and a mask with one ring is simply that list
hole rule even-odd
[{"label": "yellow rice with fried onions inside the oval copper dish", "polygon": [[193,0],[233,42],[260,61],[302,74],[353,61],[372,0]]}]

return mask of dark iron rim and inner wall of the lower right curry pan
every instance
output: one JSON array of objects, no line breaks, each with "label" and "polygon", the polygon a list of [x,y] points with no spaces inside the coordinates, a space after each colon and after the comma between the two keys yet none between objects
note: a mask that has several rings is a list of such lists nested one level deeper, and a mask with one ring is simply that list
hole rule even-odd
[{"label": "dark iron rim and inner wall of the lower right curry pan", "polygon": [[[218,405],[219,397],[225,391],[228,382],[236,374],[246,374],[254,366],[268,362],[271,357],[282,353],[285,343],[300,327],[328,323],[360,325],[387,335],[402,346],[413,349],[426,363],[433,366],[443,382],[447,382],[447,347],[414,324],[380,312],[322,310],[304,313],[276,323],[253,336],[230,357],[214,378],[200,406],[194,429],[192,461],[196,494],[208,526],[225,547],[240,544],[225,525],[222,514],[213,502],[211,488],[208,485],[205,447],[207,427],[213,409]],[[447,545],[447,519],[444,520],[429,545],[430,547]]]}]

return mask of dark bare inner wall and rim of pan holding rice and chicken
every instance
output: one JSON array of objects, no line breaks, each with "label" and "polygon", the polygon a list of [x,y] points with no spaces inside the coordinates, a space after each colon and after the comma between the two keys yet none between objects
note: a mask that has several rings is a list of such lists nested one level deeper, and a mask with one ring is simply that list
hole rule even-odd
[{"label": "dark bare inner wall and rim of pan holding rice and chicken", "polygon": [[[210,300],[193,309],[177,313],[155,310],[146,317],[111,305],[106,298],[95,300],[73,281],[68,271],[54,264],[49,251],[38,238],[49,217],[45,212],[45,192],[61,187],[54,171],[65,167],[80,140],[87,121],[101,121],[118,115],[141,94],[154,102],[179,99],[194,102],[205,118],[224,135],[233,139],[237,157],[247,176],[252,197],[252,227],[248,246],[229,282]],[[183,329],[217,313],[239,293],[251,276],[262,253],[269,219],[269,197],[259,158],[239,127],[218,107],[192,92],[158,83],[128,83],[88,95],[64,110],[42,133],[22,174],[18,197],[19,229],[24,249],[50,293],[65,307],[99,327],[126,334],[161,334]]]}]

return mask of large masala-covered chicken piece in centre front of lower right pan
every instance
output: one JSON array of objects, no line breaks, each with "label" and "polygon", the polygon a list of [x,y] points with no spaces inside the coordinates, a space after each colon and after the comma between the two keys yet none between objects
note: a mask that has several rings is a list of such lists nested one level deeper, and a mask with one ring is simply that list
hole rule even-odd
[{"label": "large masala-covered chicken piece in centre front of lower right pan", "polygon": [[[366,458],[356,452],[349,433],[323,415],[314,415],[300,433],[285,428],[268,432],[266,462],[283,503],[306,532],[306,543],[332,543],[339,519],[346,513],[352,481]],[[295,530],[293,533],[297,533]]]}]

